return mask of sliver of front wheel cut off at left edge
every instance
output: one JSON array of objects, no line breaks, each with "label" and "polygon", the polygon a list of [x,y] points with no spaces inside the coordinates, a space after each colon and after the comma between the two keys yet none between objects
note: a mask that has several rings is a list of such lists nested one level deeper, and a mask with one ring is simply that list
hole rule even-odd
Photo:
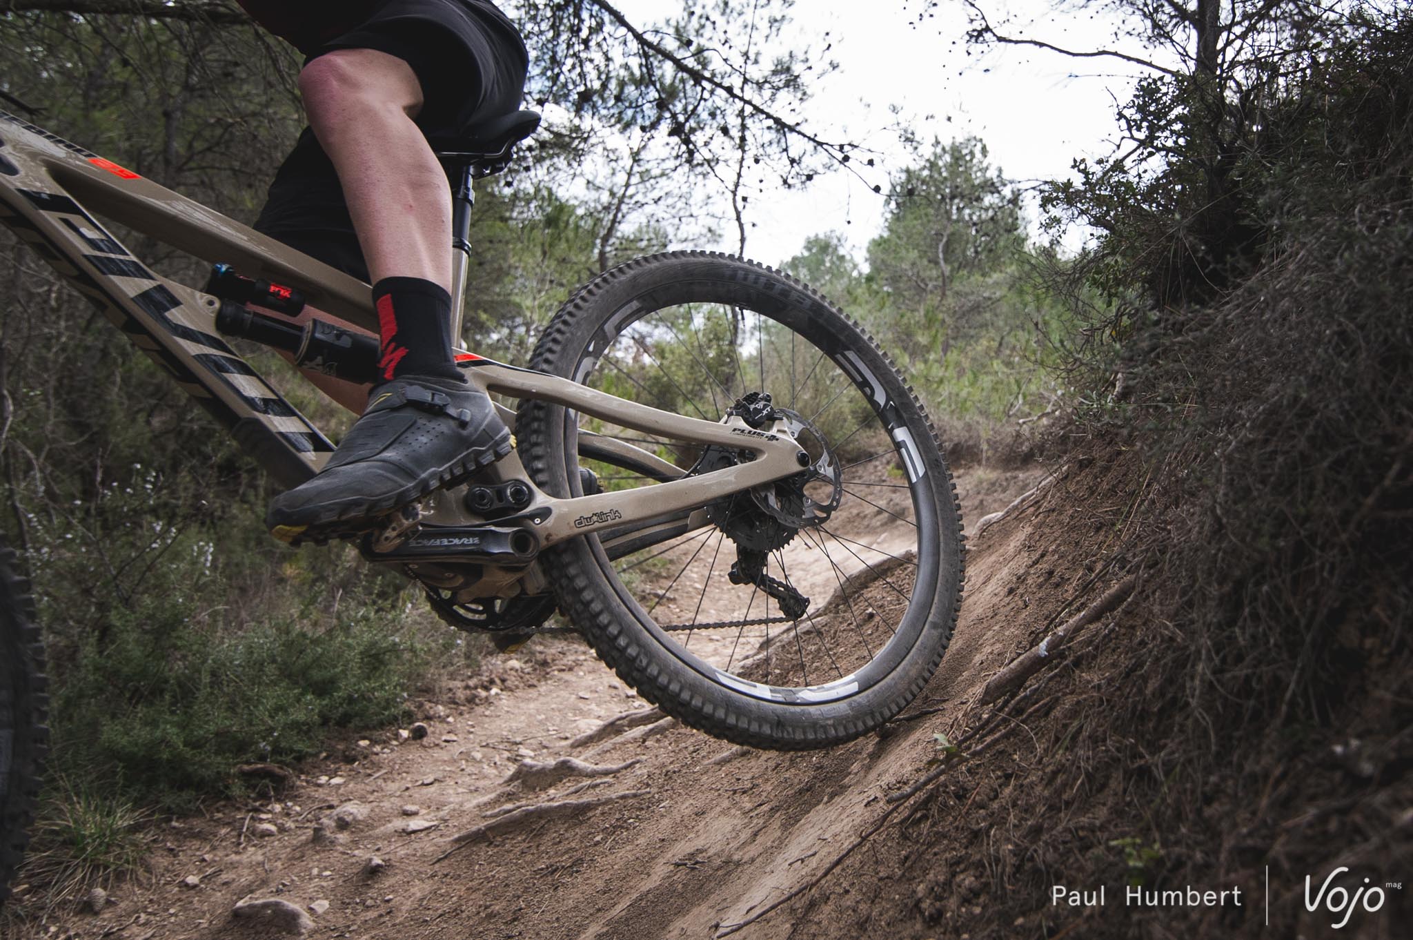
[{"label": "sliver of front wheel cut off at left edge", "polygon": [[0,543],[0,903],[24,855],[47,742],[44,649],[30,584]]}]

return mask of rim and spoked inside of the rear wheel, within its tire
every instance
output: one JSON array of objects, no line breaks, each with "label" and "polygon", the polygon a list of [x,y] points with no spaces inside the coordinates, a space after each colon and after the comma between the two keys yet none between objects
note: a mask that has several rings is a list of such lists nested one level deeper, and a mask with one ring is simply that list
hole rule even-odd
[{"label": "rim and spoked inside of the rear wheel, within its tire", "polygon": [[[729,584],[740,540],[721,524],[685,527],[627,553],[622,536],[588,539],[606,581],[663,650],[716,684],[777,704],[842,701],[899,667],[933,619],[937,598],[934,481],[917,450],[931,433],[862,334],[784,278],[674,280],[646,287],[601,317],[574,377],[706,420],[719,420],[746,392],[770,390],[781,406],[820,424],[841,457],[839,510],[766,551],[769,577],[797,591],[801,581],[814,585],[804,616],[784,615],[759,584]],[[623,464],[581,459],[581,427],[650,450],[680,471],[702,458],[701,448],[680,441],[565,413],[574,495],[584,492],[579,466],[592,469],[602,488],[660,482]],[[801,577],[804,568],[810,577]],[[834,602],[825,609],[820,585],[831,581]],[[729,645],[699,639],[722,632]],[[763,654],[752,656],[757,649]]]}]

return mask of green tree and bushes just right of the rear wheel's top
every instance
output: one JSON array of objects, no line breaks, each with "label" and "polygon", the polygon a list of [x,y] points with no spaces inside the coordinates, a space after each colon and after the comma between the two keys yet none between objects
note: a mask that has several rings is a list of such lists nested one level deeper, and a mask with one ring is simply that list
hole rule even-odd
[{"label": "green tree and bushes just right of the rear wheel's top", "polygon": [[985,457],[1015,433],[1007,421],[1054,401],[1040,339],[1063,307],[1031,287],[1019,196],[982,141],[918,147],[889,205],[866,271],[836,233],[807,239],[783,267],[873,334],[955,450]]}]

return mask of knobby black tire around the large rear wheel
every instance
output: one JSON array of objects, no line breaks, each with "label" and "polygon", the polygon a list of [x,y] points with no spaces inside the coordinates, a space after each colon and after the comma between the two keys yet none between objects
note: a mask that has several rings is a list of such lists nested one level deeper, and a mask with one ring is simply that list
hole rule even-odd
[{"label": "knobby black tire around the large rear wheel", "polygon": [[[910,486],[914,488],[914,505],[918,505],[921,493],[920,502],[927,506],[927,517],[918,517],[917,526],[931,527],[928,539],[934,540],[928,544],[935,548],[935,589],[923,591],[927,597],[918,599],[914,588],[909,605],[927,605],[917,613],[916,638],[901,652],[900,662],[885,664],[890,671],[876,681],[869,678],[869,686],[859,687],[846,698],[825,704],[810,704],[801,697],[763,700],[739,691],[742,683],[731,683],[731,676],[712,678],[699,663],[694,669],[684,662],[680,650],[674,652],[664,643],[661,638],[666,635],[656,632],[657,626],[643,605],[617,578],[596,536],[555,546],[541,554],[541,560],[552,575],[560,608],[626,683],[667,714],[706,734],[755,748],[796,751],[851,741],[876,729],[906,707],[933,676],[947,650],[964,577],[964,536],[955,485],[921,404],[875,341],[811,288],[752,262],[725,254],[674,252],[613,269],[581,288],[555,314],[530,365],[540,372],[586,382],[596,356],[605,355],[605,336],[615,331],[622,335],[625,324],[634,321],[634,305],[656,310],[698,301],[766,310],[773,324],[784,322],[800,336],[812,334],[815,341],[824,343],[821,349],[832,346],[839,351],[831,352],[831,359],[838,362],[846,351],[853,356],[851,362],[866,366],[863,375],[869,379],[877,376],[875,382],[886,387],[887,409],[893,414],[889,427],[906,427],[906,433],[893,433],[893,437],[910,435],[909,442],[916,444],[916,457],[926,469],[918,475],[926,485],[914,479]],[[637,317],[646,322],[644,314]],[[760,355],[764,356],[764,352]],[[791,348],[791,360],[794,355]],[[852,375],[849,377],[852,380]],[[855,387],[866,387],[869,396],[877,394],[868,383],[855,383]],[[578,431],[564,407],[523,401],[517,437],[520,457],[540,488],[560,498],[582,495],[575,454]],[[900,458],[903,450],[914,450],[903,442],[897,448]],[[918,544],[923,544],[921,529],[917,531]],[[920,574],[916,577],[931,577],[931,571],[924,574],[921,567],[917,565]],[[803,657],[801,652],[801,664]],[[890,654],[889,663],[893,659],[897,654]],[[861,670],[856,674],[866,673]]]}]

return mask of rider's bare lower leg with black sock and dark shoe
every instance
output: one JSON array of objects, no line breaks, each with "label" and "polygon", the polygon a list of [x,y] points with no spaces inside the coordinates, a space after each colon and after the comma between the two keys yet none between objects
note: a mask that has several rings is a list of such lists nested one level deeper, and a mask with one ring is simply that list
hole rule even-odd
[{"label": "rider's bare lower leg with black sock and dark shoe", "polygon": [[451,192],[413,123],[420,79],[397,57],[348,48],[312,59],[300,85],[372,276],[382,383],[324,469],[270,505],[290,540],[366,529],[510,452],[495,406],[452,359]]}]

